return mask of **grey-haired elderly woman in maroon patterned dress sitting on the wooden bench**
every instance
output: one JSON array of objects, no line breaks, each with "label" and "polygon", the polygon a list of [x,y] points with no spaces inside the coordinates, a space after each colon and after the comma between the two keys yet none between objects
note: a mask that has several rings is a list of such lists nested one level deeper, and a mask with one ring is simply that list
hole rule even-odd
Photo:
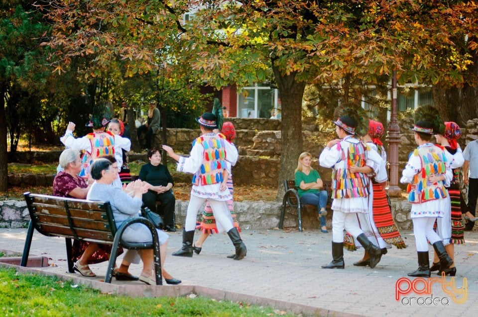
[{"label": "grey-haired elderly woman in maroon patterned dress sitting on the wooden bench", "polygon": [[[53,195],[60,197],[71,197],[85,199],[90,186],[83,177],[78,176],[82,164],[78,150],[67,149],[60,155],[59,172],[53,180]],[[93,242],[74,240],[72,246],[72,258],[76,262],[74,269],[83,276],[96,276],[89,267],[89,264],[100,263],[110,259],[111,245],[98,244]],[[119,254],[122,248],[119,249]]]}]

